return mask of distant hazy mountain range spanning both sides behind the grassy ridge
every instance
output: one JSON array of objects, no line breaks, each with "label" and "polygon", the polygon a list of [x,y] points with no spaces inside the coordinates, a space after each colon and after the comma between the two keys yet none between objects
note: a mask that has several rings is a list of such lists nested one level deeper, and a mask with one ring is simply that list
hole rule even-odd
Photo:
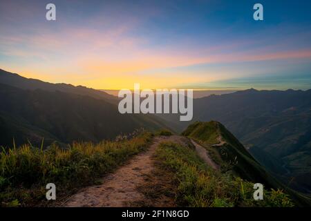
[{"label": "distant hazy mountain range spanning both sides behind the grassy ridge", "polygon": [[242,90],[194,99],[194,119],[179,115],[121,115],[117,97],[70,84],[50,84],[0,70],[3,146],[100,142],[138,128],[184,131],[189,124],[223,124],[286,186],[311,191],[311,90]]}]

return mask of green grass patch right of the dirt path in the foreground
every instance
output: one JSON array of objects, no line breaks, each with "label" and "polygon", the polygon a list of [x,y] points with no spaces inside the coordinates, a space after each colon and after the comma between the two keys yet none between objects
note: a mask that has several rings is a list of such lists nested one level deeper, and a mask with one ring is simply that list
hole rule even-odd
[{"label": "green grass patch right of the dirt path in the foreground", "polygon": [[294,206],[281,190],[265,190],[264,200],[254,200],[252,182],[210,169],[189,146],[164,142],[156,159],[178,186],[174,193],[178,206]]}]

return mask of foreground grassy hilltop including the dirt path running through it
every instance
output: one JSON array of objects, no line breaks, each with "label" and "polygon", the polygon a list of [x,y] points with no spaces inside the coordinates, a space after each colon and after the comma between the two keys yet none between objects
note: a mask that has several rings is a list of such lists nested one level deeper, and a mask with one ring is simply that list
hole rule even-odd
[{"label": "foreground grassy hilltop including the dirt path running through it", "polygon": [[[1,206],[301,206],[281,189],[254,200],[253,182],[218,171],[203,146],[169,131],[0,153]],[[46,200],[47,182],[57,185],[56,200]]]}]

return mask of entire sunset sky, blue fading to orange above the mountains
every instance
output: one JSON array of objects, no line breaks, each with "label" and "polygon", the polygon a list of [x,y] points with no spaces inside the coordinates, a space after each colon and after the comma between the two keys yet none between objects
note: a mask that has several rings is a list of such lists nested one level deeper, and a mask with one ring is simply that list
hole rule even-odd
[{"label": "entire sunset sky, blue fading to orange above the mountains", "polygon": [[[46,20],[47,3],[56,21]],[[253,19],[255,3],[263,21]],[[307,90],[310,8],[308,0],[0,0],[0,68],[107,90]]]}]

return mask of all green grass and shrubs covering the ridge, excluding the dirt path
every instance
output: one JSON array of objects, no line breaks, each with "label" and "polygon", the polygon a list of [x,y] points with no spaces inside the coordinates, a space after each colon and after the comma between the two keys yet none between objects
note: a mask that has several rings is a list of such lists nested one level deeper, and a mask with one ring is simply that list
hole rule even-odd
[{"label": "all green grass and shrubs covering the ridge, excluding the dirt path", "polygon": [[[162,130],[156,135],[169,136],[172,133]],[[196,122],[183,135],[205,146],[220,165],[220,171],[209,167],[197,155],[193,145],[162,142],[156,149],[153,173],[146,178],[147,184],[138,186],[147,195],[147,200],[134,202],[133,205],[219,207],[308,204],[308,199],[283,188],[220,123]],[[61,205],[82,186],[100,183],[99,179],[104,174],[144,151],[152,137],[149,132],[134,131],[117,137],[114,142],[75,142],[67,148],[54,143],[46,149],[43,144],[37,148],[29,143],[19,148],[15,145],[9,149],[2,148],[0,206]],[[186,137],[184,139],[187,140]],[[48,202],[45,198],[46,184],[51,182],[57,186],[56,202]],[[254,200],[254,182],[265,185],[264,200]]]}]

